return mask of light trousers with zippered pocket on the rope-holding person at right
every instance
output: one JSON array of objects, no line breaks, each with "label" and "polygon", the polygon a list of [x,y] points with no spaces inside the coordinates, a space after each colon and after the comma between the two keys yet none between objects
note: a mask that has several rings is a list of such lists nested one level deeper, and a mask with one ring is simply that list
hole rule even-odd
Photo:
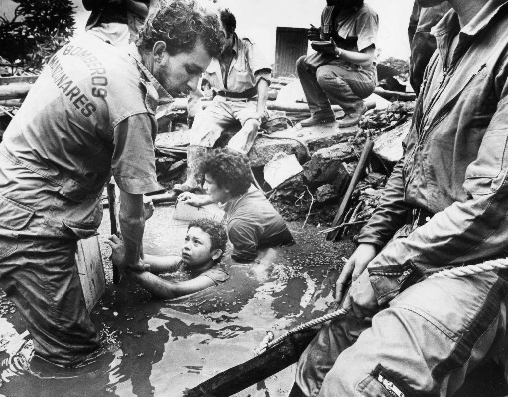
[{"label": "light trousers with zippered pocket on the rope-holding person at right", "polygon": [[296,383],[320,397],[453,395],[484,358],[504,365],[507,294],[493,272],[424,280],[371,320],[324,326],[300,357]]}]

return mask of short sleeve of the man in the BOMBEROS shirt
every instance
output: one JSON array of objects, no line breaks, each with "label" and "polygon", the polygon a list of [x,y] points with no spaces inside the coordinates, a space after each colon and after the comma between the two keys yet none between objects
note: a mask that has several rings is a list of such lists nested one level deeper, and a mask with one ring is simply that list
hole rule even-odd
[{"label": "short sleeve of the man in the BOMBEROS shirt", "polygon": [[153,145],[156,132],[157,122],[148,113],[124,118],[113,128],[111,170],[124,192],[142,194],[159,188]]}]

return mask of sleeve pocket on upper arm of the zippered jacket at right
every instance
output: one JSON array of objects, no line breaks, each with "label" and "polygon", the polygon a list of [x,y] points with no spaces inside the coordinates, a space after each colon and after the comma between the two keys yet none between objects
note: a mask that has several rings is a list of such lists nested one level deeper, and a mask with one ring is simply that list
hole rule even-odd
[{"label": "sleeve pocket on upper arm of the zippered jacket at right", "polygon": [[478,157],[468,165],[463,184],[464,191],[488,194],[501,186],[506,175],[506,139],[508,131],[488,131],[478,150]]}]

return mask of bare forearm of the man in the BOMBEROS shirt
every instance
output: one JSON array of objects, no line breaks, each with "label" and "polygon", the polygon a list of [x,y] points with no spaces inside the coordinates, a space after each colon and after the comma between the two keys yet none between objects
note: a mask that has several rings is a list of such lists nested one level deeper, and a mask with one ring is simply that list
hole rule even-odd
[{"label": "bare forearm of the man in the BOMBEROS shirt", "polygon": [[118,221],[124,246],[124,261],[119,266],[133,269],[146,269],[141,258],[143,233],[145,230],[145,210],[142,194],[132,194],[120,189],[120,210]]}]

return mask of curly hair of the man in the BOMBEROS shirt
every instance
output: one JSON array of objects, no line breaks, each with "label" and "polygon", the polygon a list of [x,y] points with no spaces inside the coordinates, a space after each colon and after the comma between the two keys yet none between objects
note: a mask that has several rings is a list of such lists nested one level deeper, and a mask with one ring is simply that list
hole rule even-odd
[{"label": "curly hair of the man in the BOMBEROS shirt", "polygon": [[225,38],[218,15],[194,0],[161,0],[140,29],[136,44],[151,50],[157,41],[166,43],[170,55],[192,51],[201,41],[210,56],[218,57]]}]

